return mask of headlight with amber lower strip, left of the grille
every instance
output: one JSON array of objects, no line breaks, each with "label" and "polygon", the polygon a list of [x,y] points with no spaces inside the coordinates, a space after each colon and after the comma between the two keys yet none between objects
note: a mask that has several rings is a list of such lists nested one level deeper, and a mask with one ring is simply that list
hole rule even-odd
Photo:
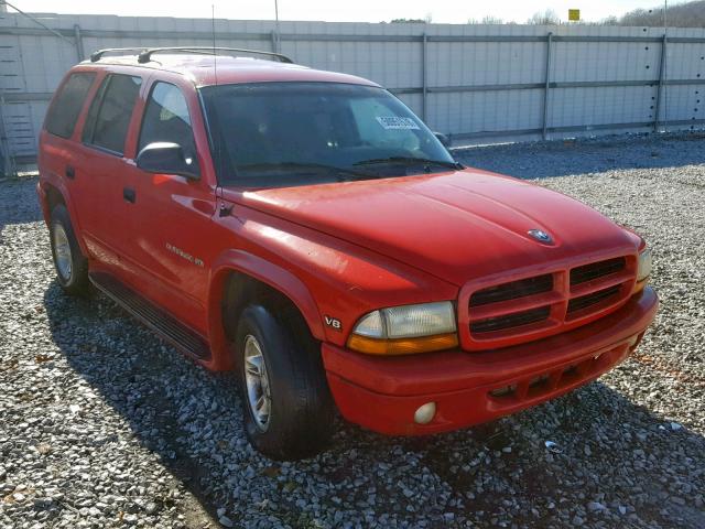
[{"label": "headlight with amber lower strip, left of the grille", "polygon": [[371,355],[427,353],[457,345],[455,310],[449,301],[370,312],[357,322],[348,338],[348,347]]}]

